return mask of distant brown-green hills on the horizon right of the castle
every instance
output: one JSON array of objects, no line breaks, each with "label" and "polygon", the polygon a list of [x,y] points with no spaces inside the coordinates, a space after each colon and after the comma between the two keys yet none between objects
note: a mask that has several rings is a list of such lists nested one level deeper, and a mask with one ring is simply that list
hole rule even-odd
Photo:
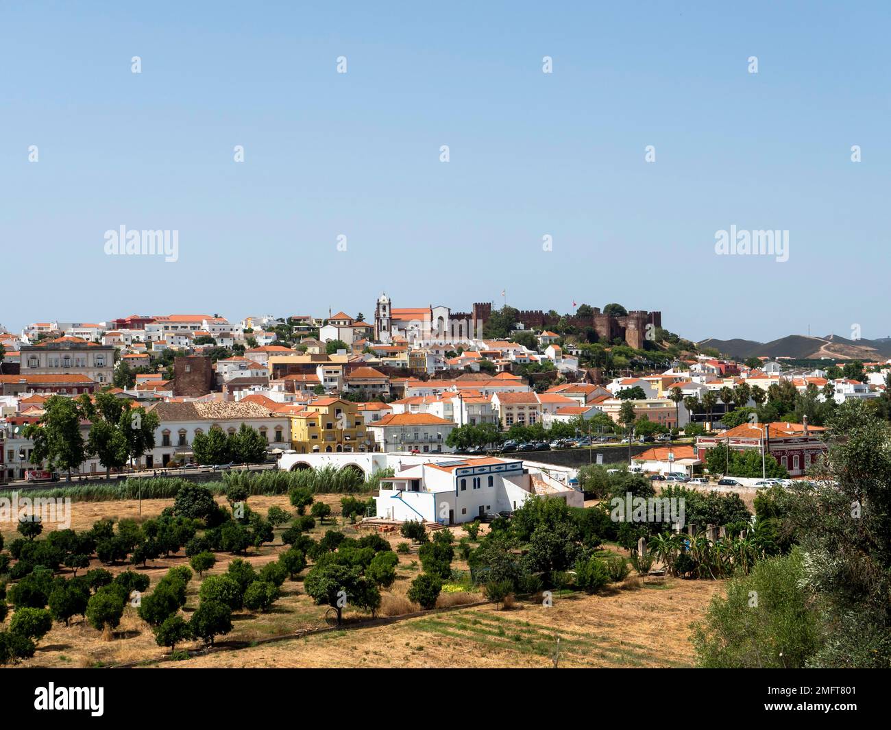
[{"label": "distant brown-green hills on the horizon right of the castle", "polygon": [[707,340],[697,342],[699,348],[714,348],[726,355],[745,360],[747,357],[796,357],[818,359],[833,357],[840,360],[885,360],[891,357],[891,338],[880,340],[846,340],[837,334],[827,337],[811,337],[790,334],[779,340],[756,342],[755,340]]}]

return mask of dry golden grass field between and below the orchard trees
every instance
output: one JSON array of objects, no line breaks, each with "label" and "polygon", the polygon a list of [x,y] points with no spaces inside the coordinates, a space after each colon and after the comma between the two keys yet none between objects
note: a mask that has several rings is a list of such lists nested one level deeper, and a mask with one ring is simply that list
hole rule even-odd
[{"label": "dry golden grass field between and below the orchard trees", "polygon": [[[334,515],[311,533],[318,538],[336,522],[347,536],[361,537],[368,529],[358,529],[339,516],[340,496],[321,495],[331,504]],[[222,499],[222,497],[220,498]],[[143,500],[142,519],[157,516],[172,500]],[[291,509],[287,496],[252,496],[251,508],[260,513],[276,504]],[[89,529],[103,517],[135,518],[138,506],[131,501],[80,502],[72,504],[71,527]],[[47,528],[49,529],[49,528]],[[456,539],[466,533],[454,528]],[[486,526],[481,533],[485,534]],[[16,537],[5,532],[8,540]],[[404,538],[384,534],[395,548]],[[275,560],[286,548],[281,539],[259,550],[251,549],[245,560],[256,567]],[[217,565],[207,575],[225,572],[235,556],[217,554]],[[397,616],[420,608],[405,593],[421,572],[417,546],[408,554],[398,554],[396,582],[382,591],[380,616]],[[187,565],[184,554],[149,562],[144,572],[154,586],[169,568]],[[91,568],[101,567],[94,561]],[[113,573],[130,566],[111,568]],[[467,570],[456,555],[456,570]],[[151,591],[151,586],[149,591]],[[189,584],[184,612],[188,617],[199,603],[200,578]],[[110,640],[81,618],[69,627],[54,624],[38,644],[37,653],[21,667],[102,667],[129,662],[146,666],[176,667],[548,667],[560,637],[560,666],[563,667],[683,667],[692,662],[690,624],[699,619],[721,584],[663,578],[627,578],[625,584],[604,595],[554,595],[552,607],[540,601],[514,603],[510,610],[495,605],[401,619],[384,626],[350,626],[367,621],[367,614],[344,612],[345,628],[273,643],[256,642],[288,636],[305,629],[325,627],[327,606],[317,606],[303,590],[302,578],[282,586],[282,598],[266,613],[238,611],[233,616],[232,633],[217,638],[218,648],[189,659],[162,661],[168,650],[155,644],[150,628],[127,606],[124,618]],[[437,607],[481,601],[470,591],[443,593]],[[7,619],[8,622],[9,619]],[[239,647],[239,648],[233,648]],[[177,649],[195,650],[190,643]]]}]

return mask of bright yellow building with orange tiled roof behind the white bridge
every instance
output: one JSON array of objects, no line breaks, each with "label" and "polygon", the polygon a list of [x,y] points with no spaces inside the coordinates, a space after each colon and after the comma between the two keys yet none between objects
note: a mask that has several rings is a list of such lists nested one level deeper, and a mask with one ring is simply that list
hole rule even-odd
[{"label": "bright yellow building with orange tiled roof behind the white bridge", "polygon": [[373,451],[359,406],[340,398],[318,398],[290,417],[291,448],[298,454]]}]

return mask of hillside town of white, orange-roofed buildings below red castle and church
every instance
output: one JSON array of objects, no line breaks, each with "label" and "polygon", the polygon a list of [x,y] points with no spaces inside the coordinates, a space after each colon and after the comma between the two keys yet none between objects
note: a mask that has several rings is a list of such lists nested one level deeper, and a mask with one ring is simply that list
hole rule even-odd
[{"label": "hillside town of white, orange-roofed buildings below red castle and church", "polygon": [[[0,477],[45,477],[26,431],[49,398],[107,393],[154,414],[153,444],[126,466],[86,454],[69,465],[75,477],[200,465],[208,457],[196,437],[246,424],[271,461],[627,444],[626,466],[689,479],[727,476],[708,469],[709,451],[726,447],[772,457],[796,478],[825,450],[825,409],[887,398],[891,370],[891,361],[736,362],[666,331],[659,312],[615,303],[562,316],[490,303],[453,312],[397,308],[381,293],[369,312],[130,315],[0,330]],[[90,429],[83,420],[85,439]]]}]

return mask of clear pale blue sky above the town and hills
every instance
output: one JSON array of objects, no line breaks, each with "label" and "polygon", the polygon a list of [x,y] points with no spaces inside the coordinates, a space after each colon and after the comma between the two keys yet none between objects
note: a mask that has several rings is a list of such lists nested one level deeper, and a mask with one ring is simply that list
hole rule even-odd
[{"label": "clear pale blue sky above the town and hills", "polygon": [[[891,334],[887,3],[83,5],[0,4],[10,329],[506,288],[696,340]],[[178,260],[106,256],[121,225]],[[732,225],[789,260],[716,256]]]}]

